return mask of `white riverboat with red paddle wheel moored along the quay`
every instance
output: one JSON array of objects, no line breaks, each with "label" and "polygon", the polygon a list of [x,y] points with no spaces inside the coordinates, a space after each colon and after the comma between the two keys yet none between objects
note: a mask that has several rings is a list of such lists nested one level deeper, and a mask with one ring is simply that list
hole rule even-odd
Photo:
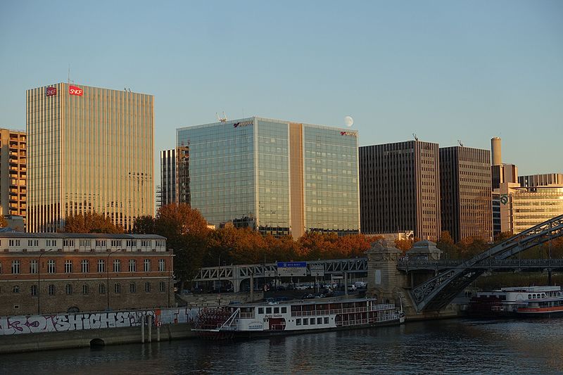
[{"label": "white riverboat with red paddle wheel moored along the quay", "polygon": [[405,314],[373,298],[250,303],[205,308],[194,331],[208,338],[271,336],[402,324]]}]

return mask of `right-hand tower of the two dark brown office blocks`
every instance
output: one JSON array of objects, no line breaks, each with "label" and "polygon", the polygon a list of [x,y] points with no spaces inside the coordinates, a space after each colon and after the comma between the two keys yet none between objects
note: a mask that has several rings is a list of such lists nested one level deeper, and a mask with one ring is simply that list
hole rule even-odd
[{"label": "right-hand tower of the two dark brown office blocks", "polygon": [[493,240],[490,151],[440,148],[440,195],[442,230],[455,242],[469,236]]}]

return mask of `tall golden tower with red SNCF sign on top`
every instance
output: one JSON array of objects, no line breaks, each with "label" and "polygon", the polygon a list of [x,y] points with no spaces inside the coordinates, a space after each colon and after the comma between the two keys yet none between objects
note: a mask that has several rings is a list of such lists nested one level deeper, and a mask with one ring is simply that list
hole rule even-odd
[{"label": "tall golden tower with red SNCF sign on top", "polygon": [[28,231],[96,211],[125,230],[154,212],[154,97],[58,83],[27,96]]}]

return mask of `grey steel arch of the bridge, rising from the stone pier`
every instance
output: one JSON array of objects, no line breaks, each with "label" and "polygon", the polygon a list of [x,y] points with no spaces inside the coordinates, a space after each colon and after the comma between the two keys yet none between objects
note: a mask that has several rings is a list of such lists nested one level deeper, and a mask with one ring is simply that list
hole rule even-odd
[{"label": "grey steel arch of the bridge, rising from the stone pier", "polygon": [[[474,258],[462,262],[457,267],[446,269],[436,277],[416,286],[410,291],[412,302],[417,312],[441,310],[455,298],[457,293],[486,271],[488,259],[503,260],[559,236],[563,236],[563,215],[522,231]],[[482,268],[479,267],[481,265]]]}]

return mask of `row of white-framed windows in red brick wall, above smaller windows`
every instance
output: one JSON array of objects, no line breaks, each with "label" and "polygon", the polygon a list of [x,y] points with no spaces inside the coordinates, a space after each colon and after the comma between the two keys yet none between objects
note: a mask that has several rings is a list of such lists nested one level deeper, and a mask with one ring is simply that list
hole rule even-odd
[{"label": "row of white-framed windows in red brick wall, above smaller windows", "polygon": [[[21,273],[21,262],[20,260],[12,260],[12,267],[11,271],[12,274],[20,274]],[[90,272],[90,261],[87,259],[83,259],[80,262],[81,271],[83,274],[87,274]],[[73,271],[74,262],[72,260],[65,260],[65,274],[71,274]],[[143,270],[144,272],[151,272],[151,260],[144,259],[143,260]],[[164,259],[158,260],[158,272],[165,272],[166,271],[166,263]],[[99,259],[98,260],[98,272],[106,272],[106,260]],[[113,272],[121,272],[121,260],[115,259],[113,260]],[[137,272],[137,260],[129,259],[129,272]],[[0,274],[2,273],[2,263],[0,262]],[[47,261],[47,273],[55,274],[56,273],[56,263],[54,260],[50,259]],[[30,274],[37,274],[37,260],[30,260]]]}]

